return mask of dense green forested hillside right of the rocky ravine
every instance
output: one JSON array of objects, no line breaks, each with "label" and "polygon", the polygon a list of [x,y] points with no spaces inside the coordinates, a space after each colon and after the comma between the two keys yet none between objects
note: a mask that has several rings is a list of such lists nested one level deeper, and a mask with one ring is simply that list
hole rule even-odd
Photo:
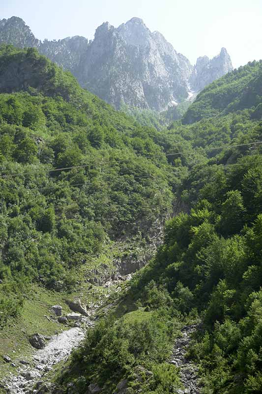
[{"label": "dense green forested hillside right of the rocky ravine", "polygon": [[69,393],[68,382],[73,393],[188,393],[168,361],[180,328],[193,322],[196,393],[262,392],[262,63],[243,69],[207,88],[188,113],[202,97],[208,108],[222,102],[232,79],[233,102],[163,132],[160,143],[176,152],[168,158],[180,170],[175,196],[191,210],[167,222],[156,257],[111,298],[111,312],[58,379],[61,393]]}]

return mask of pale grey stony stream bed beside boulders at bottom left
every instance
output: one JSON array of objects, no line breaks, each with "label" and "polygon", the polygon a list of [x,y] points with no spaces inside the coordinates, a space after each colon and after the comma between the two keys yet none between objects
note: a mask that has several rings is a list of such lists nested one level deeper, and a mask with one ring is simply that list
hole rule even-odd
[{"label": "pale grey stony stream bed beside boulders at bottom left", "polygon": [[[11,375],[5,380],[5,390],[9,394],[33,393],[33,387],[39,382],[46,383],[46,374],[60,361],[66,361],[72,350],[75,349],[85,337],[88,327],[92,326],[89,318],[83,318],[81,328],[70,328],[55,335],[44,349],[35,350],[33,361],[21,364],[18,375]],[[27,361],[25,361],[27,362]],[[35,391],[37,393],[37,391]]]}]

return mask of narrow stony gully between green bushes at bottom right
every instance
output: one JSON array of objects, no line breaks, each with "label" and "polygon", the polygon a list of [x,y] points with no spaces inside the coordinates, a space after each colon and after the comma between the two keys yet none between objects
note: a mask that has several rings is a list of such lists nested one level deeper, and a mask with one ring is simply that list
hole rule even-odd
[{"label": "narrow stony gully between green bushes at bottom right", "polygon": [[197,366],[185,356],[191,336],[196,331],[197,325],[185,326],[181,331],[181,337],[175,342],[171,363],[180,368],[180,377],[184,390],[178,390],[178,394],[200,394],[201,384],[198,377]]}]

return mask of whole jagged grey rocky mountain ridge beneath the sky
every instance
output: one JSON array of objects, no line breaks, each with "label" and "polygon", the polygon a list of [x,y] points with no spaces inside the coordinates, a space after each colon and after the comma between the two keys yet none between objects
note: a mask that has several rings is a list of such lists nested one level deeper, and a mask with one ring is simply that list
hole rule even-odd
[{"label": "whole jagged grey rocky mountain ridge beneath the sky", "polygon": [[196,96],[207,84],[233,69],[225,48],[192,66],[159,32],[132,18],[118,28],[108,22],[93,40],[81,36],[41,42],[18,17],[0,20],[0,43],[37,47],[53,62],[71,71],[80,84],[117,109],[163,111]]}]

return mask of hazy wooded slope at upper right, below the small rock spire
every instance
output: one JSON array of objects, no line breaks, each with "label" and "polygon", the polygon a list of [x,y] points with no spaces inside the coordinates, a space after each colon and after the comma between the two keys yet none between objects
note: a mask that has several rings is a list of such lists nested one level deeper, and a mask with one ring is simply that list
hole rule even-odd
[{"label": "hazy wooded slope at upper right, below the small rock spire", "polygon": [[[207,86],[189,107],[183,123],[194,123],[221,113],[261,104],[262,61],[241,66]],[[259,109],[259,108],[258,108]]]}]

